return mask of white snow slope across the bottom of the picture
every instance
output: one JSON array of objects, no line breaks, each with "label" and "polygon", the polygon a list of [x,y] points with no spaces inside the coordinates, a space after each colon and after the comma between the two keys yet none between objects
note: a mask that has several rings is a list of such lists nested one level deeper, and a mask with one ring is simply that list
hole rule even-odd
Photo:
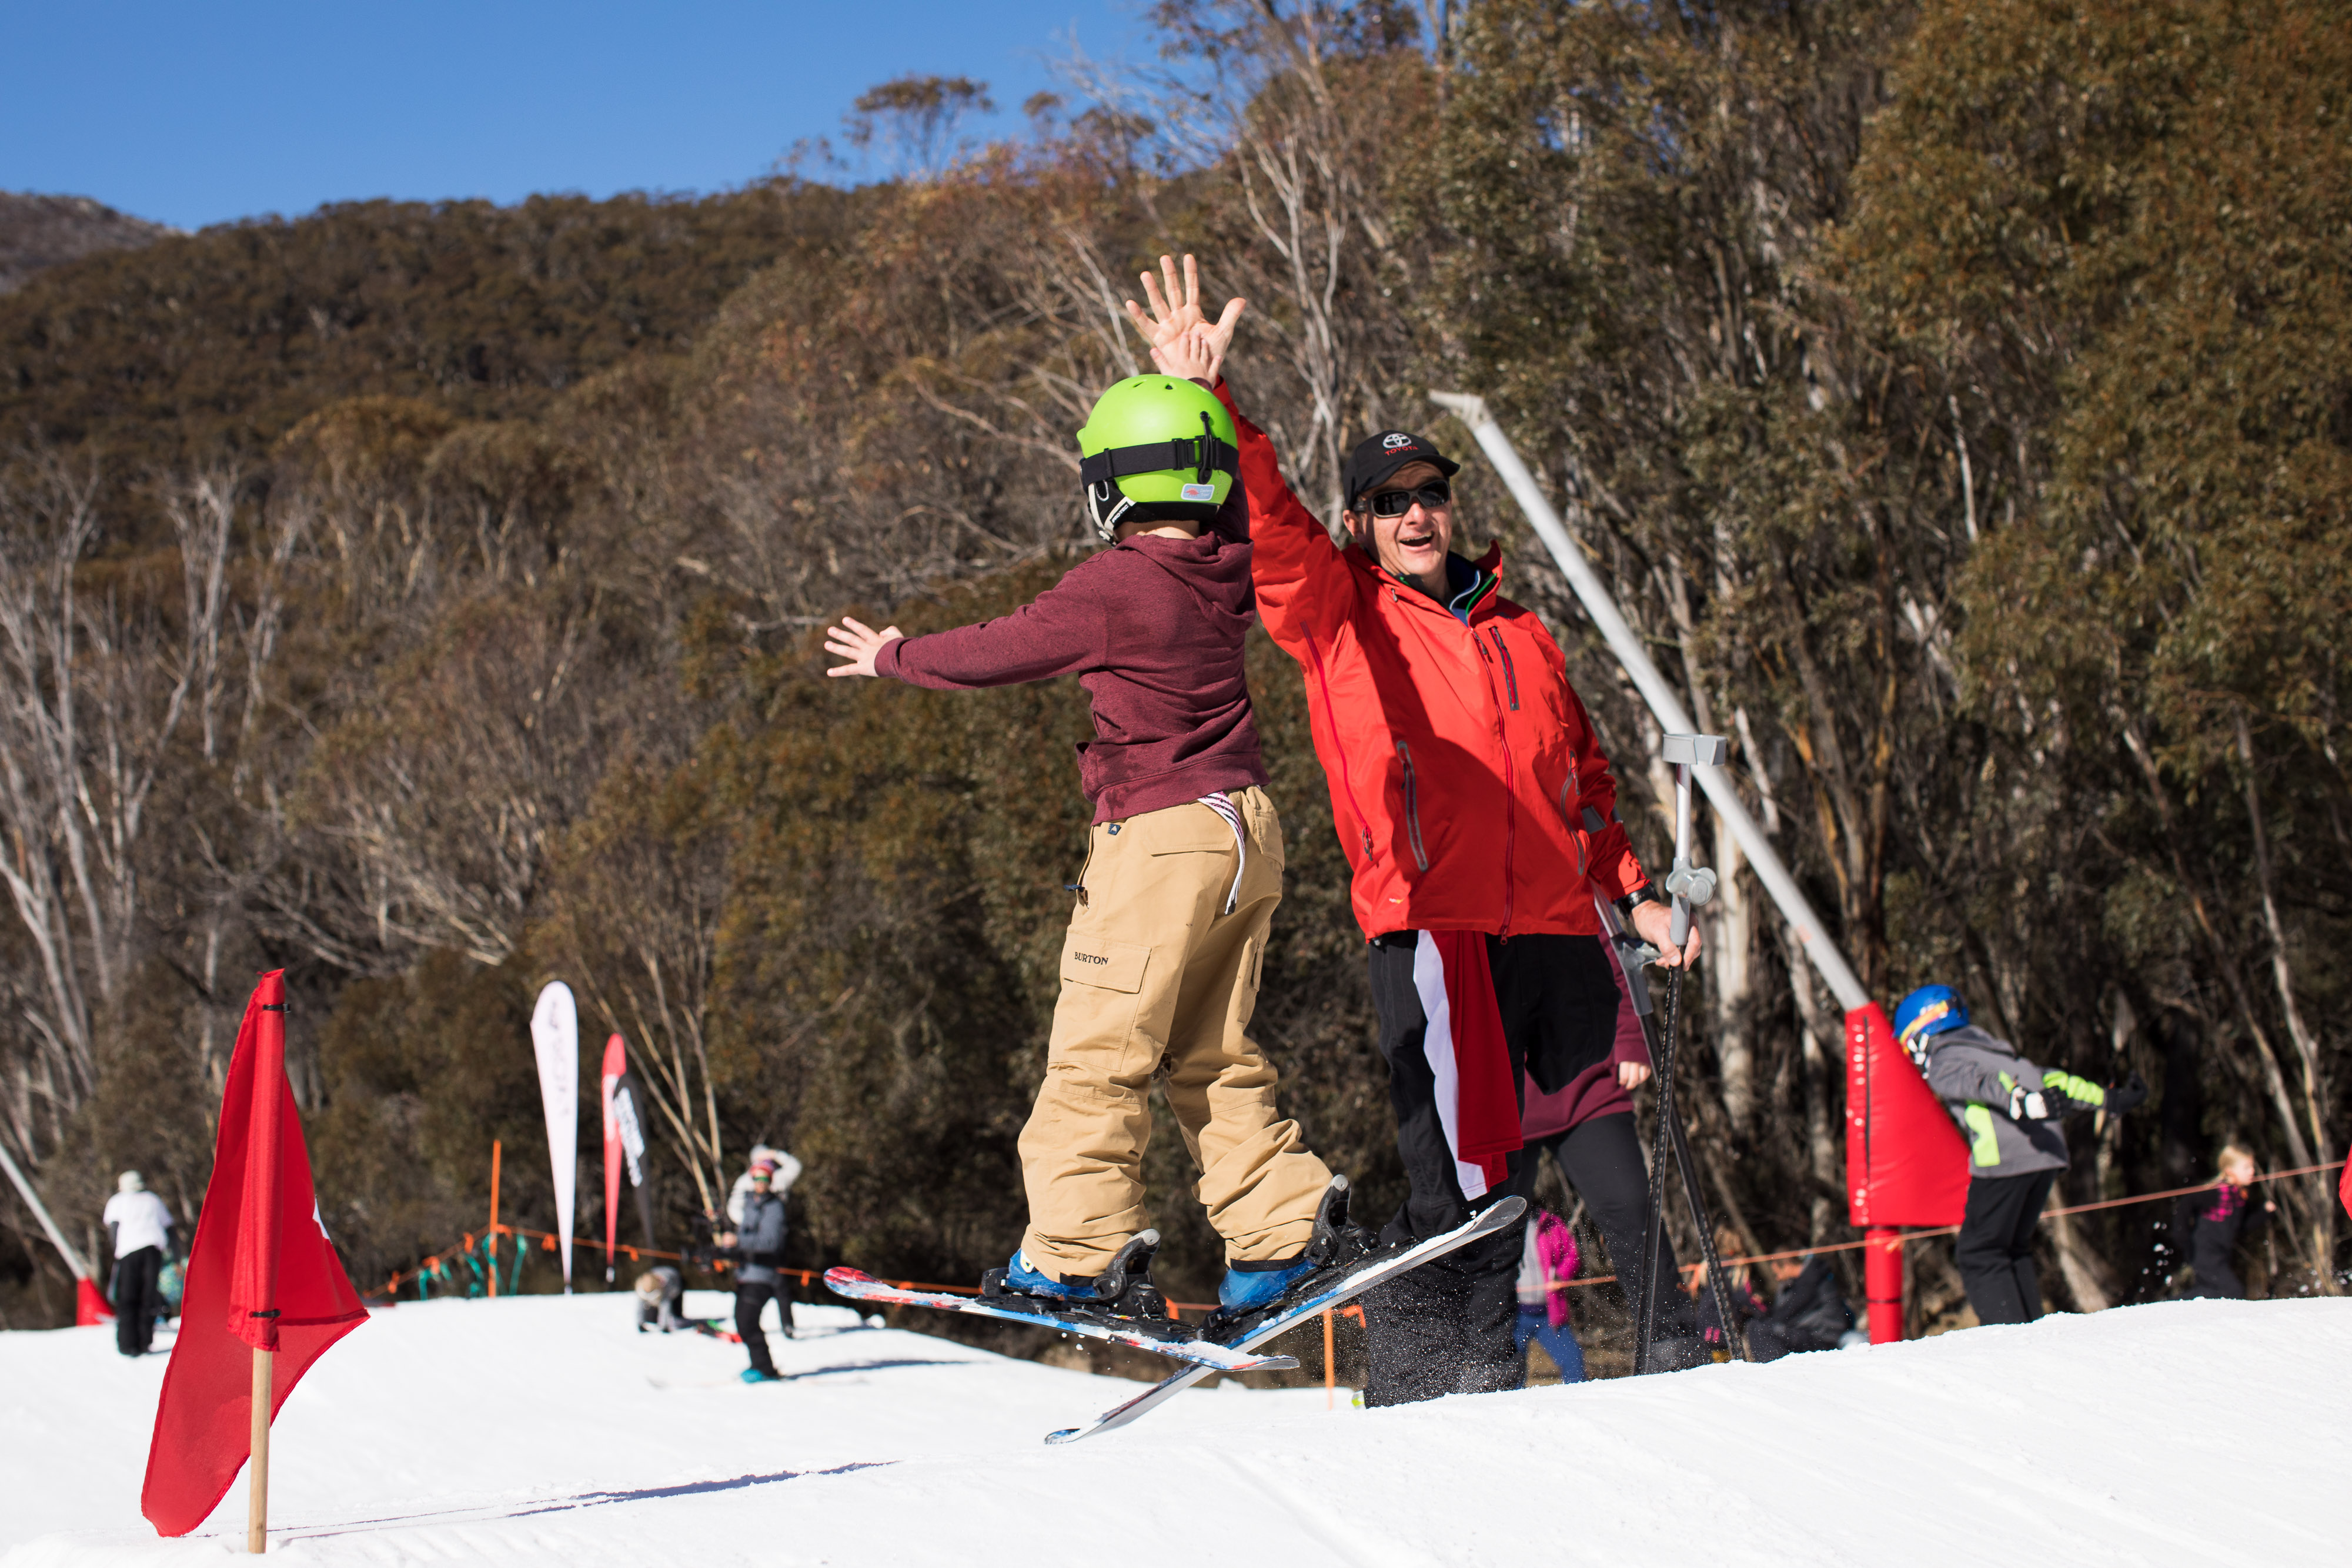
[{"label": "white snow slope across the bottom of the picture", "polygon": [[[715,1309],[720,1298],[696,1300]],[[383,1312],[278,1422],[289,1563],[2317,1563],[2343,1561],[2352,1300],[2171,1302],[1668,1378],[1324,1410],[863,1328],[743,1352],[630,1298]],[[1312,1345],[1298,1347],[1312,1356]],[[0,1568],[216,1561],[139,1479],[162,1356],[0,1333]]]}]

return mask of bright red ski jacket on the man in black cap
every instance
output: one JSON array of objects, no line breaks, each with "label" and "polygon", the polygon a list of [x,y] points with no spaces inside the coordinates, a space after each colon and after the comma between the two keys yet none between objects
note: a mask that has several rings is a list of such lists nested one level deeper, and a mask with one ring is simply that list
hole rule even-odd
[{"label": "bright red ski jacket on the man in black cap", "polygon": [[[1232,409],[1232,393],[1216,388]],[[1355,867],[1355,919],[1390,931],[1595,936],[1592,891],[1649,877],[1559,644],[1498,592],[1501,545],[1454,609],[1341,550],[1235,411],[1258,616],[1308,684],[1315,757]],[[1463,604],[1468,599],[1468,604]],[[1606,823],[1585,830],[1585,809]]]}]

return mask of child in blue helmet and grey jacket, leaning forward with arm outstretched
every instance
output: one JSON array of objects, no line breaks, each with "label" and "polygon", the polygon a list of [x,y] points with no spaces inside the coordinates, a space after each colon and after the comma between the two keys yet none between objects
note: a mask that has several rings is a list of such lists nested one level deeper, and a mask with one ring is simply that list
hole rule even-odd
[{"label": "child in blue helmet and grey jacket, leaning forward with arm outstretched", "polygon": [[2084,1110],[2126,1112],[2147,1100],[2147,1084],[2131,1074],[2100,1086],[2037,1067],[1969,1023],[1969,1004],[1950,985],[1903,997],[1896,1039],[1969,1140],[1969,1213],[1952,1248],[1969,1305],[1980,1324],[2030,1324],[2042,1316],[2034,1225],[2067,1168],[2058,1121]]}]

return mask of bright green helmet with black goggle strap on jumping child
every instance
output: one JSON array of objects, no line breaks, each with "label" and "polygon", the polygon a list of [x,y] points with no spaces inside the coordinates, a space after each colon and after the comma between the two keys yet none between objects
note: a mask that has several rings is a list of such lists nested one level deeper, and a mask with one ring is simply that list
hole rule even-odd
[{"label": "bright green helmet with black goggle strap on jumping child", "polygon": [[1197,381],[1129,376],[1077,433],[1087,517],[1110,543],[1122,522],[1214,522],[1242,482],[1232,414]]}]

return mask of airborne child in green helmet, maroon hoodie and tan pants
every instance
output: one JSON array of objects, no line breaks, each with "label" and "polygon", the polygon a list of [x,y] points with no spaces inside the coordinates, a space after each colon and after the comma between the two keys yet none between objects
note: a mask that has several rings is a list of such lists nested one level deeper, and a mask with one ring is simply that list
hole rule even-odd
[{"label": "airborne child in green helmet, maroon hoodie and tan pants", "polygon": [[997,621],[903,637],[844,616],[826,651],[849,661],[828,675],[950,691],[1077,675],[1094,708],[1080,748],[1094,827],[1021,1131],[1030,1222],[983,1286],[1089,1305],[1098,1281],[1117,1298],[1148,1269],[1160,1077],[1225,1241],[1218,1302],[1249,1312],[1329,1262],[1310,1241],[1324,1194],[1345,1187],[1282,1117],[1249,1037],[1282,900],[1282,823],[1242,677],[1251,545],[1232,418],[1195,383],[1216,374],[1207,341],[1162,369],[1112,386],[1077,433],[1105,550]]}]

